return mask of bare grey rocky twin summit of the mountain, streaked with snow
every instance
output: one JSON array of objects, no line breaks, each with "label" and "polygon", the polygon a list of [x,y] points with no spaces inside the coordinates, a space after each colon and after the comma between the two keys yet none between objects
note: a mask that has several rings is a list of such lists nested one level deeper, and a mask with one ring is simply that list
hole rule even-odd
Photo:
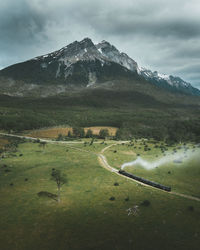
[{"label": "bare grey rocky twin summit of the mountain, streaked with snow", "polygon": [[92,62],[98,60],[101,65],[111,62],[118,63],[130,71],[137,71],[137,63],[127,54],[120,53],[113,45],[103,40],[98,44],[94,44],[90,38],[84,38],[82,41],[75,41],[62,49],[53,53],[34,58],[41,62],[42,68],[47,68],[48,64],[58,61],[59,65],[56,71],[56,77],[61,74],[60,68],[64,66],[65,76],[72,72],[73,64],[80,61]]}]

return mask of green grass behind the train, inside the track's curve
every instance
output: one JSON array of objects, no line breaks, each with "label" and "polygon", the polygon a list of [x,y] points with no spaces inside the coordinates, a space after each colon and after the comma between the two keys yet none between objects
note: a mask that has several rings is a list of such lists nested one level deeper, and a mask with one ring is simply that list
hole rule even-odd
[{"label": "green grass behind the train, inside the track's curve", "polygon": [[[167,150],[163,153],[161,149],[155,148],[155,144],[146,143],[151,150],[144,151],[144,145],[141,141],[124,145],[116,145],[105,152],[108,162],[115,168],[120,168],[125,162],[131,162],[140,156],[142,159],[154,162],[162,157],[170,157],[169,162],[166,162],[154,169],[147,170],[141,165],[126,167],[125,170],[134,173],[137,176],[144,177],[167,186],[171,186],[173,191],[182,192],[184,194],[200,197],[199,178],[200,178],[200,148],[194,144],[187,144],[188,148],[184,154],[184,149],[180,149],[181,145],[166,147]],[[160,144],[157,144],[160,146]],[[176,154],[184,155],[182,163],[174,162],[174,159],[179,159]],[[194,152],[192,152],[194,151]],[[191,156],[190,156],[191,155]]]}]

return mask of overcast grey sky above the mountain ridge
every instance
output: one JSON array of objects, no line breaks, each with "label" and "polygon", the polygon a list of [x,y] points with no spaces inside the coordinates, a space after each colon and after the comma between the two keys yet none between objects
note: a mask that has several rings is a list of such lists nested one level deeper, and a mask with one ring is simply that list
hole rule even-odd
[{"label": "overcast grey sky above the mountain ridge", "polygon": [[0,68],[85,37],[200,88],[200,0],[0,0]]}]

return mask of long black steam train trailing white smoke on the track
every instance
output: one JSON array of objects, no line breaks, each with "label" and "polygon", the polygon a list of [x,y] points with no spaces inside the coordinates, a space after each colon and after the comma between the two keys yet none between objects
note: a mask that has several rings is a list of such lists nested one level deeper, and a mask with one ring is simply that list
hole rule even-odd
[{"label": "long black steam train trailing white smoke on the track", "polygon": [[129,177],[131,179],[137,180],[139,182],[145,183],[145,184],[147,184],[149,186],[159,188],[159,189],[162,189],[162,190],[167,191],[167,192],[171,192],[171,187],[164,186],[164,185],[156,183],[154,181],[146,180],[146,179],[144,179],[142,177],[138,177],[138,176],[136,176],[134,174],[128,173],[128,172],[126,172],[126,171],[124,171],[122,169],[120,169],[118,171],[118,173],[121,174],[121,175],[125,175],[125,176],[127,176],[127,177]]}]

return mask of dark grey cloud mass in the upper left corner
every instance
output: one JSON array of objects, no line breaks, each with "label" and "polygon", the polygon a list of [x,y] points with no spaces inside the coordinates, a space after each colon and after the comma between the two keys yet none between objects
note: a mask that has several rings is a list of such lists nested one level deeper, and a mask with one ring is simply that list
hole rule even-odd
[{"label": "dark grey cloud mass in the upper left corner", "polygon": [[24,60],[45,39],[45,16],[26,1],[0,3],[0,66]]}]

